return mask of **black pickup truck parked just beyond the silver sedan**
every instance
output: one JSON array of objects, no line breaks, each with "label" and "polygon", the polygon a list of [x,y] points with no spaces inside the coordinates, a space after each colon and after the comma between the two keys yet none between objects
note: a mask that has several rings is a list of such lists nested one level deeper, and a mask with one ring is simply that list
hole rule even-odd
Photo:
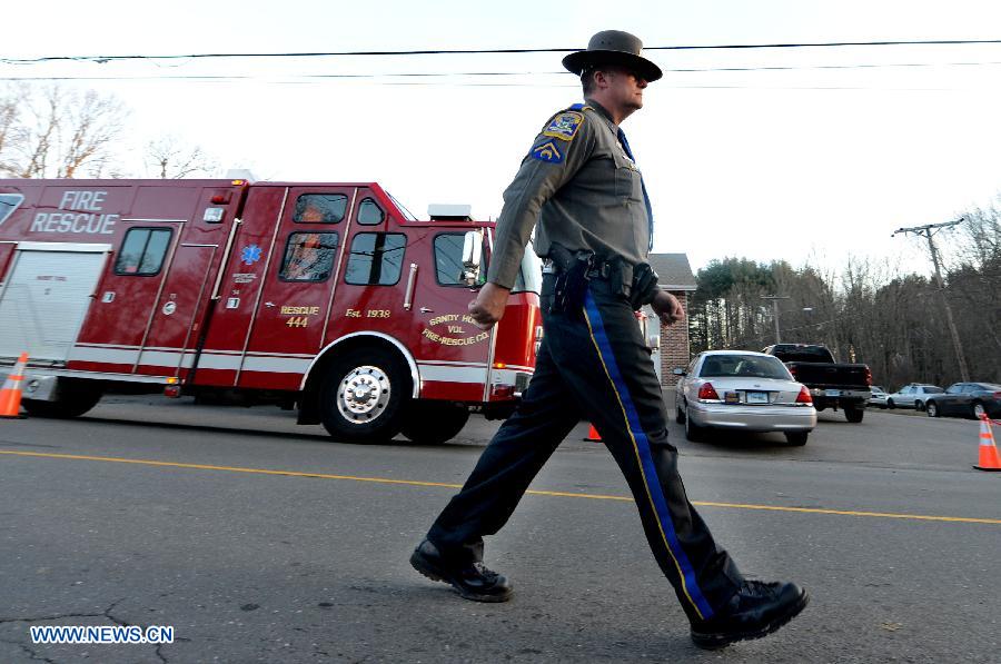
[{"label": "black pickup truck parked just beyond the silver sedan", "polygon": [[862,422],[872,385],[868,366],[838,364],[825,346],[814,344],[775,344],[762,353],[785,363],[793,378],[810,389],[817,410],[841,407],[845,419]]}]

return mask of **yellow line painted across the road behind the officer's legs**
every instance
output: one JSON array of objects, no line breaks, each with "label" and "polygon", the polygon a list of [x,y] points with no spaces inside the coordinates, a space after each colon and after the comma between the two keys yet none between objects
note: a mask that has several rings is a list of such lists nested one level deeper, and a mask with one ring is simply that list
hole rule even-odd
[{"label": "yellow line painted across the road behind the officer's legs", "polygon": [[[139,466],[160,466],[167,468],[187,468],[195,470],[224,470],[227,473],[249,473],[252,475],[280,475],[285,477],[314,477],[317,479],[348,479],[351,482],[371,482],[375,484],[400,484],[406,486],[435,486],[442,488],[462,488],[460,484],[445,482],[419,482],[417,479],[392,479],[389,477],[359,477],[356,475],[330,475],[327,473],[300,473],[296,470],[268,470],[265,468],[242,468],[239,466],[212,466],[208,464],[181,464],[177,462],[153,462],[149,459],[127,459],[113,456],[87,456],[81,454],[51,454],[42,452],[0,450],[8,456],[28,456],[53,459],[72,459],[85,462],[107,462],[112,464],[136,464]],[[579,494],[568,492],[541,492],[528,489],[533,496],[551,496],[557,498],[587,498],[589,501],[620,501],[632,503],[632,496],[612,496],[605,494]],[[973,518],[968,516],[931,516],[924,514],[894,514],[891,512],[855,512],[850,509],[825,509],[821,507],[782,507],[779,505],[749,505],[744,503],[713,503],[693,501],[700,507],[724,507],[730,509],[761,509],[767,512],[797,512],[802,514],[832,514],[836,516],[865,516],[871,518],[903,518],[911,521],[938,521],[963,524],[1001,525],[1001,518]]]}]

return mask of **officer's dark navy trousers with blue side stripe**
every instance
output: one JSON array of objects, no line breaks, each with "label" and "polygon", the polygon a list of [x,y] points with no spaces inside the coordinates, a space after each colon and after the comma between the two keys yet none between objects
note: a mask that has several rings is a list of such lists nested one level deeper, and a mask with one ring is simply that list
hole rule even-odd
[{"label": "officer's dark navy trousers with blue side stripe", "polygon": [[742,576],[685,495],[636,317],[603,279],[588,283],[583,310],[549,313],[553,281],[543,280],[545,334],[523,400],[428,539],[455,562],[482,559],[483,536],[500,529],[546,459],[589,419],[628,482],[650,547],[688,618],[710,618]]}]

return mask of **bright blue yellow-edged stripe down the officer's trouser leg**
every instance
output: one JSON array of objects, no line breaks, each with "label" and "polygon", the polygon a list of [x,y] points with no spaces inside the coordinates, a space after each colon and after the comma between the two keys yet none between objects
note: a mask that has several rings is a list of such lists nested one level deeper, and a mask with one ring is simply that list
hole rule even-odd
[{"label": "bright blue yellow-edged stripe down the officer's trouser leg", "polygon": [[594,301],[594,297],[591,295],[589,289],[584,298],[584,314],[587,320],[587,327],[591,329],[591,338],[594,341],[602,364],[605,367],[605,373],[612,381],[612,388],[615,390],[618,404],[625,416],[626,427],[630,437],[633,440],[633,448],[640,464],[640,472],[643,475],[643,482],[646,485],[646,495],[650,497],[650,502],[653,505],[654,514],[657,517],[667,553],[671,554],[671,557],[674,559],[674,564],[677,567],[682,588],[685,596],[695,606],[700,616],[703,620],[710,618],[713,615],[713,608],[698,588],[695,571],[692,568],[688,556],[685,555],[681,543],[677,541],[677,535],[674,532],[674,522],[671,519],[671,513],[667,509],[667,499],[664,497],[664,492],[661,488],[656,467],[653,463],[653,456],[650,452],[650,440],[640,424],[640,414],[636,412],[636,407],[633,404],[633,399],[630,397],[625,380],[618,370],[618,365],[612,353],[612,345],[608,341],[607,334],[605,334],[605,326],[602,323],[601,311],[598,311],[597,304]]}]

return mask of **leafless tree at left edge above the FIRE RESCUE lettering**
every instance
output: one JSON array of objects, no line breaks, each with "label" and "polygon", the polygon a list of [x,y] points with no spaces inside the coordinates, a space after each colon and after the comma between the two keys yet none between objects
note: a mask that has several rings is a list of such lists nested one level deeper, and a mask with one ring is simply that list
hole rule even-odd
[{"label": "leafless tree at left edge above the FIRE RESCUE lettering", "polygon": [[106,175],[128,113],[115,97],[58,86],[0,99],[0,172],[19,178]]}]

